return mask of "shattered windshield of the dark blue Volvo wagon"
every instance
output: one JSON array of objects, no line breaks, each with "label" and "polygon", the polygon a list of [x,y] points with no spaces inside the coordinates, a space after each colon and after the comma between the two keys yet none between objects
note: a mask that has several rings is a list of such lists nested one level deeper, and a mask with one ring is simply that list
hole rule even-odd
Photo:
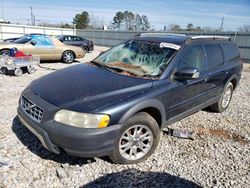
[{"label": "shattered windshield of the dark blue Volvo wagon", "polygon": [[139,77],[159,77],[176,49],[159,43],[130,40],[113,47],[94,61]]}]

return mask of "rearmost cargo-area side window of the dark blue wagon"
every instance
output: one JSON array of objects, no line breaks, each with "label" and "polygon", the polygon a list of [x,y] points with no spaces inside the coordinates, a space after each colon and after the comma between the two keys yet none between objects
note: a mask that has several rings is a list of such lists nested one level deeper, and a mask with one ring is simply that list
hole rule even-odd
[{"label": "rearmost cargo-area side window of the dark blue wagon", "polygon": [[240,61],[239,49],[235,44],[223,44],[222,46],[229,63]]}]

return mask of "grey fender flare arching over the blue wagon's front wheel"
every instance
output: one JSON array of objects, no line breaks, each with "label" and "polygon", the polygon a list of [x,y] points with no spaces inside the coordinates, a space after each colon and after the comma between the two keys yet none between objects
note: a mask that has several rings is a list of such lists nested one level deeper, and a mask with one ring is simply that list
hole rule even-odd
[{"label": "grey fender flare arching over the blue wagon's front wheel", "polygon": [[[156,110],[158,110],[160,112],[162,124],[166,121],[166,110],[165,110],[164,105],[157,99],[149,99],[149,100],[142,101],[142,102],[136,104],[135,106],[133,106],[132,108],[130,108],[120,118],[119,123],[123,124],[128,118],[130,118],[131,116],[133,116],[137,112],[142,111],[145,108],[155,108]],[[159,126],[161,126],[161,125],[159,125]]]}]

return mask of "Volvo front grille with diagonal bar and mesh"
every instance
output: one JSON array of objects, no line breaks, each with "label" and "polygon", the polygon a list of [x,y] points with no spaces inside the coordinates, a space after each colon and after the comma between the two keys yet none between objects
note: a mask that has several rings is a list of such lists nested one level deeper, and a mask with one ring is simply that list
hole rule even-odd
[{"label": "Volvo front grille with diagonal bar and mesh", "polygon": [[35,103],[31,102],[30,100],[26,99],[23,96],[21,98],[21,106],[22,106],[22,109],[26,112],[26,114],[30,118],[37,121],[38,123],[41,122],[41,120],[43,118],[43,109],[42,108],[40,108]]}]

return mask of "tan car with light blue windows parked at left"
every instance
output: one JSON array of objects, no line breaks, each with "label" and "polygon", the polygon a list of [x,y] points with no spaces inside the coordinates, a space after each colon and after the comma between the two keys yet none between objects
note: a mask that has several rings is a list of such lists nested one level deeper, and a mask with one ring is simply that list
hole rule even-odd
[{"label": "tan car with light blue windows parked at left", "polygon": [[72,63],[75,58],[82,58],[85,52],[80,47],[65,45],[54,37],[42,34],[24,35],[12,42],[0,43],[0,55],[9,55],[11,48],[17,48],[27,54],[38,55],[44,60],[62,60]]}]

